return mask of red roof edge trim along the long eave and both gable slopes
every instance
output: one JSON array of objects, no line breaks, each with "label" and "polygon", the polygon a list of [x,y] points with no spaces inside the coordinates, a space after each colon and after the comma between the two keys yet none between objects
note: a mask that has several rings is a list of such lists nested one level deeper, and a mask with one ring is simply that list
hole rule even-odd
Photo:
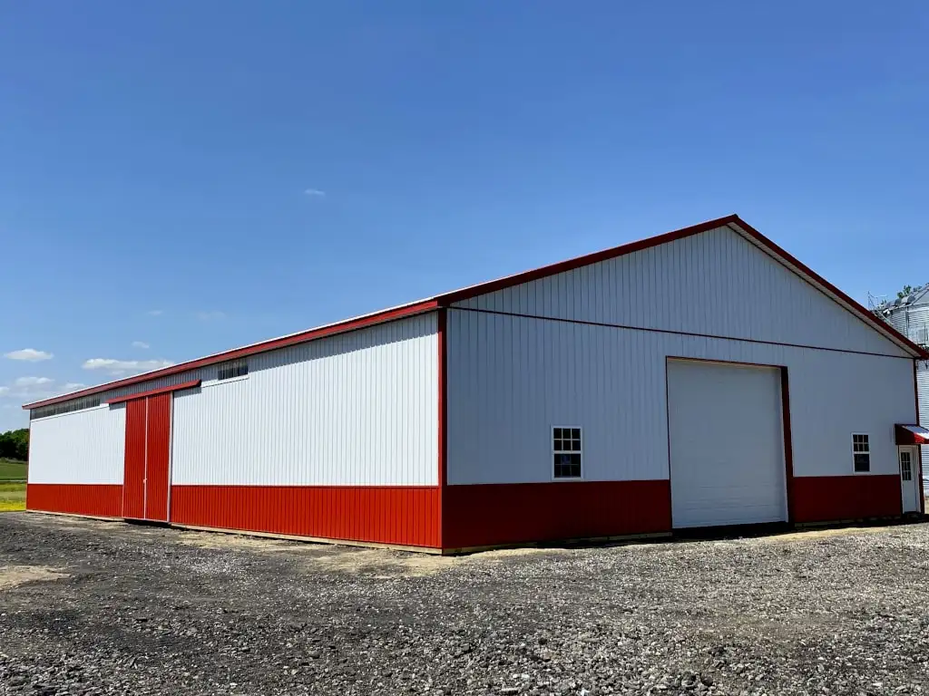
[{"label": "red roof edge trim along the long eave and both gable slopes", "polygon": [[895,342],[901,348],[908,351],[913,355],[914,358],[929,360],[929,352],[927,352],[921,346],[909,341],[906,336],[902,335],[899,331],[885,323],[882,319],[871,314],[867,309],[861,306],[860,303],[857,303],[855,300],[846,295],[842,290],[836,288],[828,280],[819,276],[805,264],[802,264],[797,259],[795,259],[787,251],[781,249],[769,238],[766,238],[754,227],[744,222],[741,218],[739,218],[739,215],[733,214],[726,215],[726,217],[720,217],[715,220],[708,220],[705,223],[700,223],[700,225],[684,227],[683,229],[677,229],[673,232],[667,232],[663,235],[658,235],[657,237],[640,239],[628,244],[622,244],[622,246],[619,247],[613,247],[612,249],[595,251],[594,253],[578,256],[577,258],[569,259],[568,261],[561,261],[557,264],[549,264],[542,266],[541,268],[535,268],[523,273],[517,273],[514,276],[507,276],[485,283],[479,283],[478,285],[472,285],[461,290],[453,290],[442,295],[436,295],[435,297],[427,298],[420,302],[403,304],[399,307],[393,307],[390,309],[382,310],[380,312],[374,312],[370,315],[353,317],[351,319],[346,319],[345,321],[336,322],[335,324],[328,324],[316,329],[308,329],[306,331],[294,333],[289,336],[283,336],[278,339],[271,339],[270,341],[254,343],[242,348],[226,351],[225,353],[208,355],[207,357],[199,358],[197,360],[190,360],[189,362],[180,363],[179,365],[173,365],[171,367],[163,367],[162,369],[146,372],[141,375],[126,378],[124,380],[111,381],[106,384],[100,384],[96,387],[82,389],[80,392],[62,394],[60,396],[55,396],[44,401],[37,401],[32,404],[26,404],[23,406],[23,408],[38,408],[40,406],[58,404],[62,401],[70,401],[82,396],[108,392],[112,389],[118,389],[120,387],[126,387],[132,384],[139,384],[141,382],[156,380],[161,377],[176,375],[180,372],[186,372],[190,369],[205,367],[207,365],[214,365],[216,363],[225,362],[227,360],[243,357],[245,355],[265,353],[267,351],[276,350],[284,346],[294,345],[294,343],[315,341],[316,339],[321,339],[325,336],[332,336],[336,333],[344,333],[346,331],[362,329],[364,327],[373,326],[375,324],[382,324],[386,321],[392,321],[394,319],[399,319],[405,316],[422,314],[424,312],[438,309],[439,307],[449,306],[451,303],[462,302],[463,300],[467,300],[478,295],[484,295],[489,292],[495,292],[497,290],[504,290],[505,288],[511,288],[521,283],[530,282],[531,280],[538,280],[539,278],[554,276],[557,273],[564,273],[565,271],[580,268],[581,266],[596,264],[608,259],[614,259],[618,256],[633,253],[634,251],[642,251],[651,247],[657,247],[660,244],[665,244],[667,242],[686,237],[692,237],[693,235],[698,235],[701,232],[706,232],[708,230],[723,226],[730,226],[745,235],[747,238],[750,238],[759,247],[763,248],[765,251],[768,251],[771,255],[778,258],[782,264],[785,264],[798,276],[804,278],[814,288],[825,293],[835,302],[842,304],[845,309],[857,315],[864,322],[870,324],[873,329],[882,333],[887,339]]}]

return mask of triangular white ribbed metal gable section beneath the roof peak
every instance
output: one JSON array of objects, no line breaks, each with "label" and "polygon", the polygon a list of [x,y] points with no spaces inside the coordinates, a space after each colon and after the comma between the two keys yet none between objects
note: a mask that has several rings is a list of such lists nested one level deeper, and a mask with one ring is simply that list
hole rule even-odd
[{"label": "triangular white ribbed metal gable section beneath the roof peak", "polygon": [[906,355],[728,227],[481,295],[460,306]]}]

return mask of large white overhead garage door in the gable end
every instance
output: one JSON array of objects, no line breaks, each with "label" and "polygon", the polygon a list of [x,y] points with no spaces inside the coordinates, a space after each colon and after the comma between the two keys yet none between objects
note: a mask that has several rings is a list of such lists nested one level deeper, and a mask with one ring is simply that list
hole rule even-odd
[{"label": "large white overhead garage door in the gable end", "polygon": [[668,361],[674,527],[787,521],[780,371]]}]

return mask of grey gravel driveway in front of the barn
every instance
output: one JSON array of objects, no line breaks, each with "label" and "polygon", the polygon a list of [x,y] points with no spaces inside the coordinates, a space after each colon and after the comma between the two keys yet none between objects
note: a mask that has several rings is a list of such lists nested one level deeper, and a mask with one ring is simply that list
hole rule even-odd
[{"label": "grey gravel driveway in front of the barn", "polygon": [[0,693],[929,694],[929,526],[437,558],[0,515]]}]

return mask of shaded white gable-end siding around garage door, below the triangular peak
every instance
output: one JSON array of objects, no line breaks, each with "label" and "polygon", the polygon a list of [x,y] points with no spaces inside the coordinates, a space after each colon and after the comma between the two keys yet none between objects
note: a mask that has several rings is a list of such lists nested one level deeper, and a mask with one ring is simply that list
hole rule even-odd
[{"label": "shaded white gable-end siding around garage door, below the triangular peak", "polygon": [[850,475],[851,433],[895,473],[915,418],[912,362],[767,343],[450,310],[449,483],[551,481],[551,431],[583,426],[588,480],[668,478],[667,356],[787,366],[796,476]]}]

